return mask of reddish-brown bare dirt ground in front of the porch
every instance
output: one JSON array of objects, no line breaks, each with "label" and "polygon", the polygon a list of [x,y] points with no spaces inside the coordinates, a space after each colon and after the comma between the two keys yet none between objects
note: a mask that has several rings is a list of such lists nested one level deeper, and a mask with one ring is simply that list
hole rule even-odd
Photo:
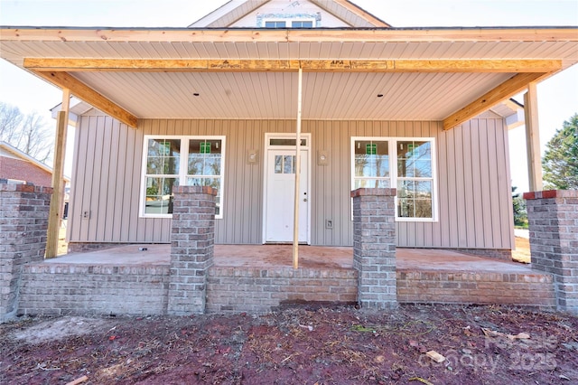
[{"label": "reddish-brown bare dirt ground in front of the porch", "polygon": [[570,315],[468,305],[22,317],[0,325],[0,383],[575,384],[577,331]]}]

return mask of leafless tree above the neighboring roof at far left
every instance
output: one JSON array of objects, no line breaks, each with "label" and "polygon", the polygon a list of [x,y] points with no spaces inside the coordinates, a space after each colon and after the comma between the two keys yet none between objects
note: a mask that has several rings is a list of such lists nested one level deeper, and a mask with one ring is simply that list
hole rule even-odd
[{"label": "leafless tree above the neighboring roof at far left", "polygon": [[0,102],[0,140],[42,163],[51,160],[54,136],[36,112],[24,115],[19,108]]}]

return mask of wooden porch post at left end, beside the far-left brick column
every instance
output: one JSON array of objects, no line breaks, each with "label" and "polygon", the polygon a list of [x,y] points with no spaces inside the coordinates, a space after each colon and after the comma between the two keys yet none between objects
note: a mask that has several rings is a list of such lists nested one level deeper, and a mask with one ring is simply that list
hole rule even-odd
[{"label": "wooden porch post at left end, beside the far-left brick column", "polygon": [[54,143],[54,164],[52,167],[51,209],[48,217],[46,258],[58,254],[58,238],[62,220],[64,201],[64,156],[66,155],[66,133],[69,125],[70,89],[62,89],[62,108],[56,119],[56,140]]}]

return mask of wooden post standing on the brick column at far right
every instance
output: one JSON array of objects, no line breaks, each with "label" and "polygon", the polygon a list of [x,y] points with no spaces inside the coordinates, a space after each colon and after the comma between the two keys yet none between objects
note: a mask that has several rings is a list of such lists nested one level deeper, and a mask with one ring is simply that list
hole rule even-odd
[{"label": "wooden post standing on the brick column at far right", "polygon": [[542,187],[542,156],[540,155],[540,128],[538,124],[538,103],[536,83],[529,83],[524,94],[524,115],[526,120],[527,176],[531,192],[539,192]]}]

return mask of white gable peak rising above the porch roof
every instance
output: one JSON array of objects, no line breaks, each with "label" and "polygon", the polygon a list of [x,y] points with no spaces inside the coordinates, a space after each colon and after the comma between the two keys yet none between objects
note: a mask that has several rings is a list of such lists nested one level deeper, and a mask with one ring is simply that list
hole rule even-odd
[{"label": "white gable peak rising above the porch roof", "polygon": [[192,28],[264,28],[266,21],[308,21],[314,28],[389,27],[347,0],[232,0]]}]

